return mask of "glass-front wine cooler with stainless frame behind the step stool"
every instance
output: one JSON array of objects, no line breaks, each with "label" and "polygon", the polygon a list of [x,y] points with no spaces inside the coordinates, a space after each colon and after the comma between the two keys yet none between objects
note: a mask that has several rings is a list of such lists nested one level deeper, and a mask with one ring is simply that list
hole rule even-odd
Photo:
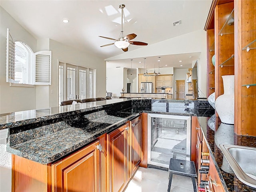
[{"label": "glass-front wine cooler with stainless frame behind the step stool", "polygon": [[148,164],[169,167],[170,158],[190,160],[191,116],[148,114]]}]

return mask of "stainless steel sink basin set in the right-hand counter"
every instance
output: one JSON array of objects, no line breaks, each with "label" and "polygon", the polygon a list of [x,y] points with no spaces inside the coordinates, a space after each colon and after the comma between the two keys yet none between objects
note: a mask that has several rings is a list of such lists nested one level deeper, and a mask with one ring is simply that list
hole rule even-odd
[{"label": "stainless steel sink basin set in the right-hand counter", "polygon": [[220,149],[237,178],[256,188],[256,148],[220,144]]}]

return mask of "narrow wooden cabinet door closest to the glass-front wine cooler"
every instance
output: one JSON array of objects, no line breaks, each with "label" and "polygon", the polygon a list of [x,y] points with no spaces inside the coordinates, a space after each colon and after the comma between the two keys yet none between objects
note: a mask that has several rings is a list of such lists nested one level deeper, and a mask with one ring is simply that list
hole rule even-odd
[{"label": "narrow wooden cabinet door closest to the glass-front wine cooler", "polygon": [[137,170],[141,160],[141,122],[140,117],[130,122],[130,177]]}]

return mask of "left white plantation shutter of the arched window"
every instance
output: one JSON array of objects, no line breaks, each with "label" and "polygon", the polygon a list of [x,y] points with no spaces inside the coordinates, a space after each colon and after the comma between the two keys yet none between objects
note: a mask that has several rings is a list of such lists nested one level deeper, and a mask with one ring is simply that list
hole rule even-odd
[{"label": "left white plantation shutter of the arched window", "polygon": [[7,28],[6,40],[6,82],[14,83],[15,76],[15,44]]}]

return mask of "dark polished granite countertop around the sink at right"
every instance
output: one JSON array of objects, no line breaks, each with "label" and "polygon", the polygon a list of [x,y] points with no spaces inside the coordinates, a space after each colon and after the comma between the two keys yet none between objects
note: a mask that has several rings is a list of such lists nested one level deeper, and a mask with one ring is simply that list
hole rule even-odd
[{"label": "dark polished granite countertop around the sink at right", "polygon": [[[256,188],[242,183],[234,173],[230,172],[229,164],[223,163],[222,151],[217,144],[234,144],[256,147],[256,137],[238,136],[234,134],[234,125],[223,124],[218,117],[198,117],[206,144],[210,149],[217,172],[226,192],[256,192]],[[216,123],[215,123],[216,122]],[[224,132],[222,132],[222,130]],[[224,166],[222,166],[222,164]],[[225,166],[227,165],[227,166]],[[232,169],[231,169],[232,170]]]}]

